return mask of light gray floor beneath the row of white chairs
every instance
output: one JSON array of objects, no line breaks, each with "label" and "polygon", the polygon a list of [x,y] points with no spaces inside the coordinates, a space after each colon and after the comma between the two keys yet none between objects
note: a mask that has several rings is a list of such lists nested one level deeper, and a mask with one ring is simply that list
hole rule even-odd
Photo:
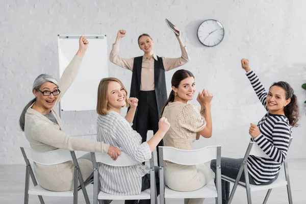
[{"label": "light gray floor beneath the row of white chairs", "polygon": [[[291,160],[288,161],[290,180],[292,185],[293,202],[295,204],[306,203],[306,160]],[[24,165],[0,165],[0,203],[22,203],[24,196]],[[283,170],[281,176],[284,176]],[[92,202],[92,185],[87,187],[90,201]],[[262,203],[265,196],[265,192],[253,192],[253,203]],[[59,197],[44,197],[45,203],[72,203],[72,198],[59,198]],[[183,199],[169,199],[167,203],[184,203]],[[30,195],[29,203],[38,204],[39,200],[37,196]],[[79,193],[79,203],[85,203],[82,192]],[[113,201],[113,204],[123,203],[123,201]],[[215,200],[212,198],[206,199],[203,203],[213,204]],[[237,189],[233,203],[245,204],[246,194],[241,188]],[[268,203],[288,203],[287,190],[285,187],[272,190]]]}]

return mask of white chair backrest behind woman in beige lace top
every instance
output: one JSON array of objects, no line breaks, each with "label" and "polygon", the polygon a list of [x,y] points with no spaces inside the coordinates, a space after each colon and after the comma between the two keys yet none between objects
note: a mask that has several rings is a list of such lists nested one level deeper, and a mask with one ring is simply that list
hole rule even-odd
[{"label": "white chair backrest behind woman in beige lace top", "polygon": [[160,146],[159,148],[162,149],[162,154],[160,150],[162,160],[182,165],[202,164],[217,159],[217,153],[221,154],[221,146],[207,146],[194,150],[183,150],[168,146]]}]

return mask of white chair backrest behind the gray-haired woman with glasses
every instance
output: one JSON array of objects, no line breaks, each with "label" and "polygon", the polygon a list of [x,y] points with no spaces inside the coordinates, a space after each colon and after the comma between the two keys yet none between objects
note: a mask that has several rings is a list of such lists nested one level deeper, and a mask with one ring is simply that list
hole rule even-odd
[{"label": "white chair backrest behind the gray-haired woman with glasses", "polygon": [[54,165],[61,164],[67,161],[72,161],[71,153],[67,149],[55,149],[51,151],[39,152],[30,148],[20,147],[25,152],[27,159],[34,161],[37,164]]}]

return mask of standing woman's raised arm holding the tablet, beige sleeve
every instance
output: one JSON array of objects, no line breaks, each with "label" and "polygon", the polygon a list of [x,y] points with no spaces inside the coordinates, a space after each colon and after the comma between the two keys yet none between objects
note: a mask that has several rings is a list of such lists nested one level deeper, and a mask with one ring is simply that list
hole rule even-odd
[{"label": "standing woman's raised arm holding the tablet, beige sleeve", "polygon": [[183,41],[182,41],[182,32],[177,29],[175,27],[175,29],[177,31],[179,31],[180,35],[177,36],[175,35],[175,37],[177,38],[177,41],[179,41],[180,43],[180,47],[181,47],[181,50],[182,50],[182,56],[180,58],[165,58],[163,57],[163,63],[164,63],[164,68],[165,68],[165,71],[169,71],[171,69],[174,69],[176,67],[179,67],[179,66],[182,66],[184,64],[186,64],[189,60],[190,60],[190,57],[187,53],[187,49],[186,49],[186,46],[184,45]]}]

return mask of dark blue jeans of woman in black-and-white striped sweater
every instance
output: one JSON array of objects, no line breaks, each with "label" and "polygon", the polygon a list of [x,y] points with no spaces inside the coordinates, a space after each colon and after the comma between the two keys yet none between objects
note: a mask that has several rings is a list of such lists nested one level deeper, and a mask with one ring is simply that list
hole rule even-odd
[{"label": "dark blue jeans of woman in black-and-white striped sweater", "polygon": [[[242,162],[243,162],[243,158],[233,159],[233,158],[221,157],[221,173],[223,175],[231,177],[232,179],[236,179]],[[211,169],[216,173],[216,160],[211,161]],[[248,174],[248,177],[249,177],[250,184],[257,185],[252,179],[252,176],[250,174]],[[267,183],[260,184],[260,185],[269,185],[272,182],[274,182],[277,179],[277,177],[278,177],[278,174],[273,180]],[[242,172],[240,181],[245,183],[244,172]],[[216,179],[215,179],[215,183],[216,183]],[[230,197],[230,182],[221,180],[221,189],[222,189],[222,204],[227,204],[228,198]]]}]

